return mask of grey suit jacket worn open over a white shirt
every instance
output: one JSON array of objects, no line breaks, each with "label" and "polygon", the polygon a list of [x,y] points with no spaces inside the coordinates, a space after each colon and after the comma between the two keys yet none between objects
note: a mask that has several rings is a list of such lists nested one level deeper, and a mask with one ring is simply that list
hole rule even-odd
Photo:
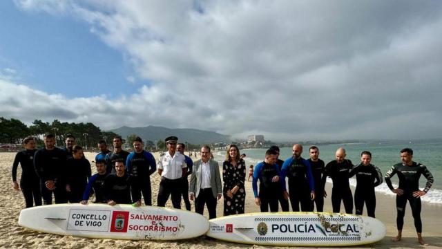
[{"label": "grey suit jacket worn open over a white shirt", "polygon": [[[220,167],[218,162],[209,159],[210,165],[210,185],[212,187],[213,197],[217,197],[218,193],[222,193],[222,183],[220,176]],[[191,174],[191,181],[189,183],[189,193],[195,193],[195,197],[198,197],[201,189],[201,175],[202,175],[202,160],[197,160],[193,164],[193,171]]]}]

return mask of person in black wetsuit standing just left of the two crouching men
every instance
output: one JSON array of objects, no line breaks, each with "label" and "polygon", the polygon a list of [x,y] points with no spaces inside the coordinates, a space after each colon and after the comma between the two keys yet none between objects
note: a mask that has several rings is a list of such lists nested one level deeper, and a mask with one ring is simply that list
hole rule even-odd
[{"label": "person in black wetsuit standing just left of the two crouching men", "polygon": [[79,203],[83,200],[84,190],[90,178],[90,163],[84,158],[83,148],[79,145],[73,147],[73,158],[66,163],[66,191],[70,203]]}]

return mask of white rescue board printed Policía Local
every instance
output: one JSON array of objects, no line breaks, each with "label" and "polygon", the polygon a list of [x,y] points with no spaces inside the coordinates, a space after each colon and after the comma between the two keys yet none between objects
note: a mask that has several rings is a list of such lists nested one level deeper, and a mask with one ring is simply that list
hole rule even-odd
[{"label": "white rescue board printed Polic\u00eda Local", "polygon": [[380,241],[386,232],[372,217],[325,212],[238,214],[209,223],[209,237],[263,246],[357,246]]}]

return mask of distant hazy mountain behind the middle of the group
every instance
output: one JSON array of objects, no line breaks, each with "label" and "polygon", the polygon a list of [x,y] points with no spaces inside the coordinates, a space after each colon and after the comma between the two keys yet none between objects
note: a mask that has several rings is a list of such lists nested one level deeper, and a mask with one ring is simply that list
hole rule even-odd
[{"label": "distant hazy mountain behind the middle of the group", "polygon": [[169,129],[165,127],[119,127],[117,129],[111,129],[122,138],[126,139],[127,136],[135,134],[140,136],[143,140],[164,140],[168,136],[177,136],[179,142],[189,142],[194,145],[209,144],[213,142],[231,142],[230,136],[216,133],[213,131],[202,131],[198,129]]}]

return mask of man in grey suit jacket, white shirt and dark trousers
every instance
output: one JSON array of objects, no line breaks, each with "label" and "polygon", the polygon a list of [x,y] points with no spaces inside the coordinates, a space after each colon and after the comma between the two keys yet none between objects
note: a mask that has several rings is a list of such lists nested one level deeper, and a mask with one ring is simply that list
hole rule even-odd
[{"label": "man in grey suit jacket, white shirt and dark trousers", "polygon": [[195,212],[203,214],[204,204],[209,210],[209,219],[216,218],[216,201],[222,196],[220,167],[218,162],[210,159],[210,147],[201,148],[201,159],[193,165],[189,183],[189,199],[195,200]]}]

